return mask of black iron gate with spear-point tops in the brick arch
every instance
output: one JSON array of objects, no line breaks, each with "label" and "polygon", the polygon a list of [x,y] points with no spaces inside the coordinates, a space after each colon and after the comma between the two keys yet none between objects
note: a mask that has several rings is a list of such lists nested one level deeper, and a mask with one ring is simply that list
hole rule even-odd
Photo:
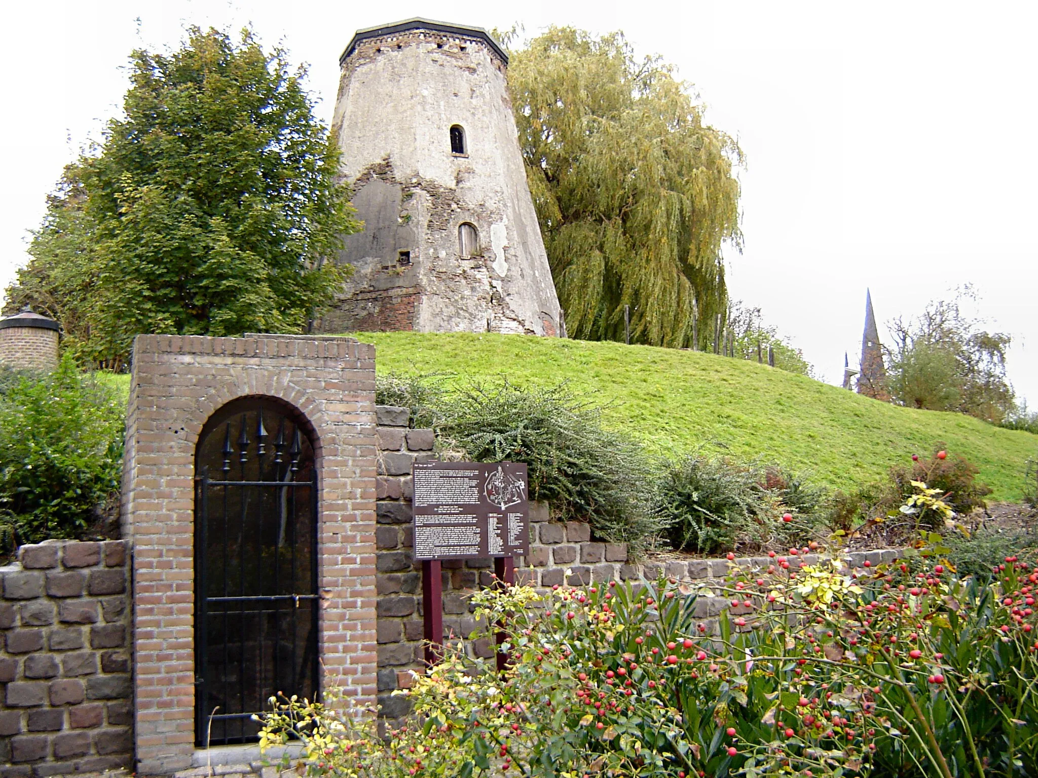
[{"label": "black iron gate with spear-point tops in the brick arch", "polygon": [[224,406],[195,454],[195,742],[247,743],[275,694],[318,692],[317,468],[297,415]]}]

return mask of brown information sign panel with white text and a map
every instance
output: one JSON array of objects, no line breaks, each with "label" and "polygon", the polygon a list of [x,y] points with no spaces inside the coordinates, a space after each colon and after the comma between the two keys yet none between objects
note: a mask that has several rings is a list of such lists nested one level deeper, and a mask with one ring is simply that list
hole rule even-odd
[{"label": "brown information sign panel with white text and a map", "polygon": [[526,556],[526,466],[512,462],[421,462],[414,476],[414,558]]}]

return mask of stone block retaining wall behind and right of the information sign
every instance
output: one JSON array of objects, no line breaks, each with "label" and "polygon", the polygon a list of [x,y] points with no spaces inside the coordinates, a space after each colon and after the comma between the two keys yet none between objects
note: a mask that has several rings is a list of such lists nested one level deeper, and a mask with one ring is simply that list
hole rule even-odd
[{"label": "stone block retaining wall behind and right of the information sign", "polygon": [[[376,515],[378,703],[380,716],[397,722],[408,712],[407,698],[393,696],[397,689],[410,686],[412,672],[421,672],[424,622],[421,611],[421,565],[412,554],[411,464],[425,462],[435,454],[435,436],[431,429],[408,427],[406,408],[377,406],[378,478]],[[889,562],[898,556],[894,550],[854,552],[848,563],[853,567]],[[816,563],[812,554],[789,557],[799,564]],[[766,569],[774,559],[740,557],[736,564]],[[655,581],[661,575],[701,589],[696,617],[708,632],[717,630],[717,616],[732,608],[728,598],[718,596],[728,575],[728,559],[691,559],[682,555],[652,557],[638,563],[628,561],[622,544],[592,539],[591,527],[583,522],[553,522],[546,503],[530,504],[529,555],[516,558],[516,583],[550,589],[566,583],[588,585],[605,581]],[[443,637],[467,638],[476,628],[470,612],[469,596],[493,581],[491,559],[448,559],[441,562],[443,586]],[[733,612],[742,612],[737,606]],[[468,649],[490,657],[493,647],[475,643]]]}]

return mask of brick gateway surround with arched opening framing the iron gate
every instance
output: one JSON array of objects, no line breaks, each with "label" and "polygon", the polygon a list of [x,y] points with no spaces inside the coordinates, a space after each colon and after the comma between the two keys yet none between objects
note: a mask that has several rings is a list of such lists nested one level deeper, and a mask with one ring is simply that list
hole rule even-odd
[{"label": "brick gateway surround with arched opening framing the iron gate", "polygon": [[375,703],[375,348],[336,337],[139,335],[122,516],[134,544],[140,773],[191,767],[194,451],[206,420],[249,395],[290,402],[313,426],[323,683]]}]

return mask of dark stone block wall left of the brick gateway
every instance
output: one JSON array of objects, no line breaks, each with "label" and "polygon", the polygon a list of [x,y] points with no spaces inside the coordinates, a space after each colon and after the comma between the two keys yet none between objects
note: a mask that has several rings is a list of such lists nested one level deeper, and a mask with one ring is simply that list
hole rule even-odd
[{"label": "dark stone block wall left of the brick gateway", "polygon": [[23,546],[0,567],[0,778],[130,767],[126,540]]}]

